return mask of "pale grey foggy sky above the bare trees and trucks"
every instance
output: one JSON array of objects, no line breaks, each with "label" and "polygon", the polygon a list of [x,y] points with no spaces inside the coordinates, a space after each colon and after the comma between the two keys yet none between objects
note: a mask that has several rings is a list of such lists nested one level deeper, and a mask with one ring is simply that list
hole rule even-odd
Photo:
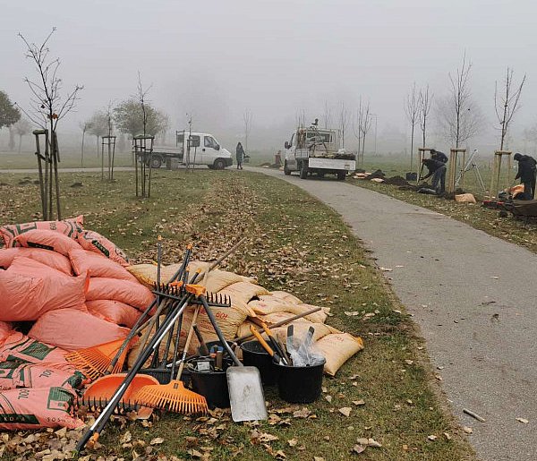
[{"label": "pale grey foggy sky above the bare trees and trucks", "polygon": [[536,121],[537,4],[529,0],[0,0],[0,12],[0,89],[23,107],[23,77],[35,71],[17,33],[40,43],[57,27],[50,48],[65,89],[84,85],[64,130],[134,94],[140,71],[172,130],[192,112],[195,129],[236,137],[248,108],[253,138],[256,127],[291,131],[297,111],[321,117],[325,101],[336,121],[342,101],[353,111],[362,96],[379,132],[407,132],[403,100],[413,81],[440,97],[464,53],[487,117],[483,137],[496,141],[494,83],[507,65],[528,75],[514,129]]}]

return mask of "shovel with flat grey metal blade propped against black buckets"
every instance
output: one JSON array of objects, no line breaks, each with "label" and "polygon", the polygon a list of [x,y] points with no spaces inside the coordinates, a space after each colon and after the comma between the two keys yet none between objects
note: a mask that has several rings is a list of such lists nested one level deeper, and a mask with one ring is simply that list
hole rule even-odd
[{"label": "shovel with flat grey metal blade propped against black buckets", "polygon": [[234,354],[233,349],[227,344],[222,330],[217,324],[214,314],[211,312],[205,295],[200,295],[200,301],[207,312],[207,316],[217,333],[217,337],[227,354],[233,359],[235,366],[226,371],[227,387],[229,388],[229,403],[231,417],[235,423],[240,421],[259,421],[268,418],[265,396],[261,386],[260,371],[253,366],[244,366]]}]

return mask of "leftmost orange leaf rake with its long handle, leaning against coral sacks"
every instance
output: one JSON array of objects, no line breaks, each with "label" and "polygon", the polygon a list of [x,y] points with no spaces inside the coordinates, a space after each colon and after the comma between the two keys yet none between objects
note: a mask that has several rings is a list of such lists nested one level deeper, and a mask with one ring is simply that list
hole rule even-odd
[{"label": "leftmost orange leaf rake with its long handle, leaning against coral sacks", "polygon": [[[183,275],[183,271],[186,268],[186,261],[190,257],[191,252],[192,244],[189,244],[184,253],[183,264],[177,272],[175,272],[170,282],[173,282],[177,277]],[[155,300],[149,304],[125,339],[118,339],[103,345],[73,351],[71,354],[65,355],[65,359],[84,373],[85,376],[90,378],[90,380],[96,380],[103,374],[122,371],[129,348],[134,346],[138,340],[136,336],[147,326],[142,325],[142,323],[147,319],[149,312],[155,307],[157,301],[157,298],[155,298]],[[162,308],[164,308],[164,305]],[[158,316],[159,313],[160,312],[156,312],[155,315]]]}]

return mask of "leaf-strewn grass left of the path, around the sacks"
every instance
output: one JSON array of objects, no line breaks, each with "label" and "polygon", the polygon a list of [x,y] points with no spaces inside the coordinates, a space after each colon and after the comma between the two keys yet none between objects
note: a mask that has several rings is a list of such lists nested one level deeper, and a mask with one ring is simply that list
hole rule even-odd
[{"label": "leaf-strewn grass left of the path, around the sacks", "polygon": [[[0,193],[10,197],[0,201],[2,224],[38,218],[38,186],[17,185],[20,179],[2,176],[9,185]],[[149,427],[120,419],[107,426],[101,445],[88,453],[91,459],[473,459],[468,436],[444,407],[413,321],[332,210],[290,184],[253,173],[162,170],[153,179],[153,196],[140,200],[132,174],[118,173],[113,184],[101,183],[99,175],[64,174],[64,214],[84,214],[87,228],[140,262],[156,258],[158,235],[164,237],[165,262],[179,260],[189,242],[196,244],[196,257],[212,259],[246,235],[228,269],[331,307],[328,323],[363,337],[365,349],[335,378],[325,377],[323,397],[314,404],[288,405],[268,388],[270,419],[259,424],[232,423],[227,412],[194,420],[165,414]],[[75,182],[83,186],[69,187]],[[348,416],[339,411],[346,407]],[[358,438],[382,447],[358,455]],[[35,453],[57,438],[46,434],[38,443],[24,449]],[[25,453],[21,459],[28,459]]]}]

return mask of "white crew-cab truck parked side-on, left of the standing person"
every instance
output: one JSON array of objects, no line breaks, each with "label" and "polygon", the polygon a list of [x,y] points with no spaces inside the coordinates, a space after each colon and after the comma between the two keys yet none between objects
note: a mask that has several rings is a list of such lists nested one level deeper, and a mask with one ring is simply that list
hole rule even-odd
[{"label": "white crew-cab truck parked side-on, left of the standing person", "polygon": [[171,168],[173,159],[181,165],[207,165],[217,170],[233,165],[231,152],[208,132],[175,132],[175,147],[155,147],[151,165],[159,168],[166,163]]}]

